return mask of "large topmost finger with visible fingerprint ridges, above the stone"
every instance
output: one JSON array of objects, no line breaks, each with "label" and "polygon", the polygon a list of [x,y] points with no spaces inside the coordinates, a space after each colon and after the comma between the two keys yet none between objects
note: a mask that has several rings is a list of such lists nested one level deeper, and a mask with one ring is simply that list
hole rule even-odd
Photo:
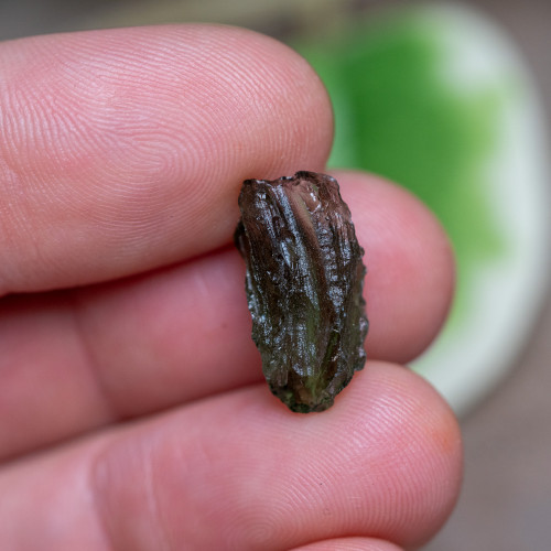
[{"label": "large topmost finger with visible fingerprint ridges, above the stone", "polygon": [[179,25],[0,44],[0,294],[227,242],[246,177],[318,170],[327,95],[292,50]]}]

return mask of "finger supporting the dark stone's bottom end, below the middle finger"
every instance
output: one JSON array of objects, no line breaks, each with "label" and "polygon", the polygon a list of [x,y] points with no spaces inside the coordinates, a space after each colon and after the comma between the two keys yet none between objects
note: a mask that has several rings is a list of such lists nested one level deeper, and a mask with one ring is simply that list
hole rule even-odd
[{"label": "finger supporting the dark stone's bottom end, below the middle finger", "polygon": [[252,387],[14,464],[0,476],[0,540],[71,549],[78,533],[112,549],[270,551],[354,536],[419,545],[456,499],[457,424],[414,374],[371,364],[359,375],[324,413],[293,414]]}]

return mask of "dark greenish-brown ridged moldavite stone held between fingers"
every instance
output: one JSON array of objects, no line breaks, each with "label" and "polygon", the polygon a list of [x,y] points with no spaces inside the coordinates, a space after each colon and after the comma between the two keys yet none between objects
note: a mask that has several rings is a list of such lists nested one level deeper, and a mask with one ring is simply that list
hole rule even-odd
[{"label": "dark greenish-brown ridged moldavite stone held between fingers", "polygon": [[247,264],[252,339],[271,391],[323,411],[366,360],[366,269],[335,179],[246,180],[235,242]]}]

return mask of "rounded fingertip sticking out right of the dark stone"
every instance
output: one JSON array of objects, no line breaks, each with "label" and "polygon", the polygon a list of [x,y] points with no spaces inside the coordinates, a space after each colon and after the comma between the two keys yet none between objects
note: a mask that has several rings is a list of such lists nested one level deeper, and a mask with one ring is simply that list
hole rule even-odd
[{"label": "rounded fingertip sticking out right of the dark stone", "polygon": [[[409,192],[374,176],[337,173],[366,249],[367,350],[400,364],[419,356],[449,313],[453,252],[442,226]],[[346,190],[348,191],[348,190]]]}]

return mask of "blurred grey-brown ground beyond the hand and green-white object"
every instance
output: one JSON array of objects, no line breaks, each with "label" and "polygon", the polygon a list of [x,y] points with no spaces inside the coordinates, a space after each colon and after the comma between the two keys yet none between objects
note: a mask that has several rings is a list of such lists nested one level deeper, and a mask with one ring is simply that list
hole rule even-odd
[{"label": "blurred grey-brown ground beyond the hand and green-white object", "polygon": [[[347,10],[375,18],[389,7],[419,3],[411,0],[2,0],[0,40],[121,24],[208,20],[250,26],[300,46],[301,29],[312,32],[316,26],[327,25],[328,19],[339,24],[339,17]],[[471,0],[464,6],[482,10],[516,44],[542,99],[542,122],[551,127],[551,2]],[[549,235],[542,238],[549,242]],[[450,522],[425,551],[539,551],[550,545],[549,293],[543,293],[540,302],[528,337],[510,358],[511,369],[491,392],[464,409],[463,495]]]}]

